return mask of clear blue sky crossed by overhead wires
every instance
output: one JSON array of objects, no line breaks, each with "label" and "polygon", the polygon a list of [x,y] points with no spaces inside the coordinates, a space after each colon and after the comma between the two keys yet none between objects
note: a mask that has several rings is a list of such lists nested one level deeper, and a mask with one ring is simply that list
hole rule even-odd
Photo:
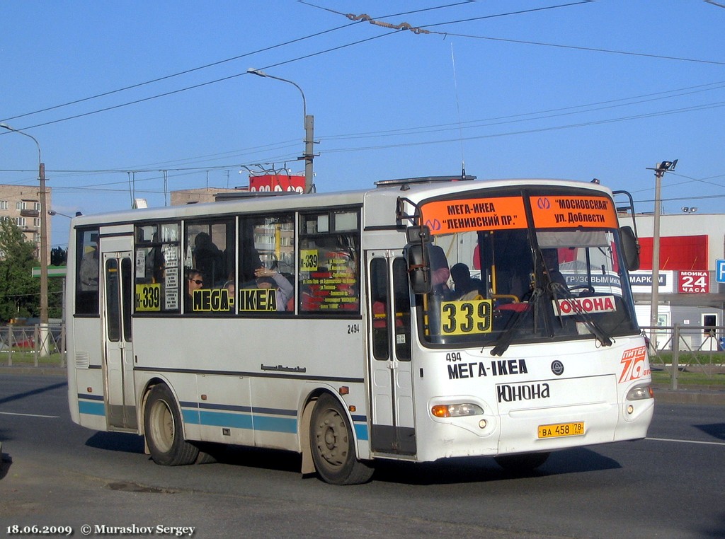
[{"label": "clear blue sky crossed by overhead wires", "polygon": [[[725,201],[725,1],[5,0],[0,17],[0,122],[38,139],[57,212],[125,209],[132,189],[163,206],[162,170],[168,191],[302,172],[299,91],[249,67],[304,91],[320,192],[465,161],[481,180],[597,177],[646,212],[647,168],[679,159],[664,212]],[[36,166],[3,130],[0,183]]]}]

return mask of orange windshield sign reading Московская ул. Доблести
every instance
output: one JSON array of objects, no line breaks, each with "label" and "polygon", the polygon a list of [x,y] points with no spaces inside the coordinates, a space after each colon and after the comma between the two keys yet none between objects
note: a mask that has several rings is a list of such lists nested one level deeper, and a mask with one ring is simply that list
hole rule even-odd
[{"label": "orange windshield sign reading \u041c\u043e\u0441\u043a\u043e\u0432\u0441\u043a\u0430\u044f \u0443\u043b. \u0414\u043e\u0431\u043b\u0435\u0441\u0442\u0438", "polygon": [[616,228],[617,214],[605,196],[532,196],[537,228]]}]

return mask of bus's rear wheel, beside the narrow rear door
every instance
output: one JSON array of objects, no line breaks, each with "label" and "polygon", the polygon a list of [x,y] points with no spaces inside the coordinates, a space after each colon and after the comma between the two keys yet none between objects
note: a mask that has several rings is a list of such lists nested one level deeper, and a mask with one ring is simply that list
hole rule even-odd
[{"label": "bus's rear wheel, beside the narrow rear door", "polygon": [[149,453],[156,464],[193,464],[199,456],[199,448],[183,438],[181,413],[171,390],[165,384],[154,385],[146,399],[144,433]]}]

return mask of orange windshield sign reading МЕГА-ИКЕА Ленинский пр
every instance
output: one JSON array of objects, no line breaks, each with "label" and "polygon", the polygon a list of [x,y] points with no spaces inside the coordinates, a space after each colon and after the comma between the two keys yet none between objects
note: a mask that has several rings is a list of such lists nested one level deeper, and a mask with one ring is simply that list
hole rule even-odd
[{"label": "orange windshield sign reading \u041c\u0415\u0413\u0410-\u0418\u041a\u0415\u0410 \u041b\u0435\u043d\u0438\u043d\u0441\u043a\u0438\u0439 \u043f\u0440", "polygon": [[429,202],[422,213],[431,234],[526,228],[521,196]]}]

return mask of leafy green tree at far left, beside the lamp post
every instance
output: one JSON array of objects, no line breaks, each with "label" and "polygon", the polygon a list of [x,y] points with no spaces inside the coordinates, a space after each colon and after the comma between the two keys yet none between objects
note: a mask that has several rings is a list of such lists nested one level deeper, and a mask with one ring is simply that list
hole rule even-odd
[{"label": "leafy green tree at far left, beside the lamp post", "polygon": [[38,265],[36,246],[8,219],[0,221],[0,319],[37,317],[40,280],[32,276]]}]

